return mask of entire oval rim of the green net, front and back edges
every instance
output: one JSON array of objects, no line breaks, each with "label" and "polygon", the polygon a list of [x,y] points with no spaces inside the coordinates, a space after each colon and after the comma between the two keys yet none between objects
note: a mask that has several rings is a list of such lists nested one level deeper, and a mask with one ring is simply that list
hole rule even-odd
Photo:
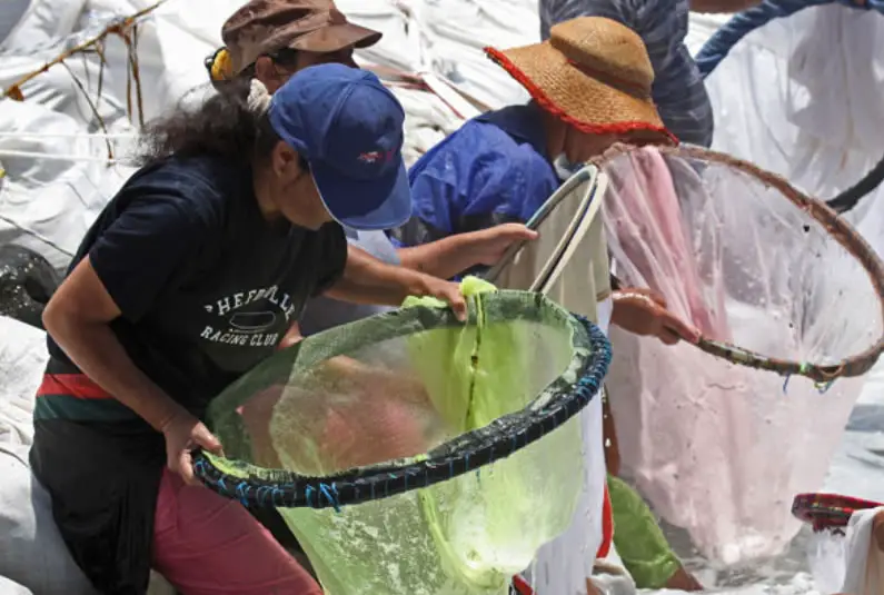
[{"label": "entire oval rim of the green net, front and back edges", "polygon": [[[419,457],[357,467],[325,477],[310,477],[285,469],[265,469],[242,460],[225,459],[195,450],[193,474],[213,492],[240,500],[246,506],[338,508],[447,482],[506,458],[539,440],[574,417],[596,397],[610,364],[610,344],[595,324],[568,314],[539,294],[498,290],[491,296],[495,300],[506,303],[510,315],[529,318],[545,310],[564,319],[573,330],[574,343],[588,347],[585,356],[575,355],[575,359],[579,360],[577,380],[570,383],[558,377],[519,411],[456,436]],[[483,299],[483,296],[478,298]],[[468,298],[470,324],[476,324],[476,299]],[[495,321],[487,314],[485,319]],[[393,321],[397,324],[390,324]],[[417,306],[371,316],[304,340],[325,339],[327,345],[335,345],[334,350],[329,349],[322,357],[317,357],[317,361],[321,361],[358,347],[359,337],[365,336],[367,329],[371,329],[370,334],[376,341],[383,341],[415,331],[460,325],[463,323],[457,320],[450,309]],[[280,351],[257,366],[249,376],[274,376],[274,371],[280,367],[291,367],[300,347],[298,344]],[[241,381],[235,383],[234,387]],[[227,404],[225,415],[228,423],[239,424],[235,409],[236,406]],[[225,445],[225,449],[228,449],[228,445]]]}]

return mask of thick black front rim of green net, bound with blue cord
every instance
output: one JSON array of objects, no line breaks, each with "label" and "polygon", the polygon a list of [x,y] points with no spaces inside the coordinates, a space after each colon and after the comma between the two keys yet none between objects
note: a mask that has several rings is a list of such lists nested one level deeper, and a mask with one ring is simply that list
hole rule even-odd
[{"label": "thick black front rim of green net, bound with blue cord", "polygon": [[[536,295],[539,305],[543,296]],[[454,315],[446,314],[448,324]],[[610,343],[588,319],[570,315],[570,325],[588,355],[577,370],[577,380],[559,377],[523,409],[495,419],[487,426],[461,434],[426,455],[348,469],[324,477],[267,469],[235,459],[193,452],[193,473],[210,489],[249,507],[339,508],[425,488],[476,472],[542,439],[568,422],[599,393],[610,364]],[[552,395],[552,397],[549,396]],[[546,403],[538,406],[538,400]]]}]

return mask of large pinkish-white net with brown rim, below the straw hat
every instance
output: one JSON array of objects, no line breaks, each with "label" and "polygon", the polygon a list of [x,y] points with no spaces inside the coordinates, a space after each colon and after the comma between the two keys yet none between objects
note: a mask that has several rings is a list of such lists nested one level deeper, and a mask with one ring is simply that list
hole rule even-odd
[{"label": "large pinkish-white net with brown rim, below the straw hat", "polygon": [[703,335],[667,347],[612,329],[625,470],[707,557],[775,555],[881,354],[884,267],[822,202],[749,163],[627,147],[596,163],[614,274]]}]

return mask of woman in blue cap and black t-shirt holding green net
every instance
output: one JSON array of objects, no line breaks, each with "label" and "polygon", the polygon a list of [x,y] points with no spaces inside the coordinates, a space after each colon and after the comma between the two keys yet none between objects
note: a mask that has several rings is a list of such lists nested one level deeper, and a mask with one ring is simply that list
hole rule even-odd
[{"label": "woman in blue cap and black t-shirt holding green net", "polygon": [[404,112],[378,79],[324,65],[272,99],[252,91],[148,130],[145,166],[43,314],[31,462],[101,593],[145,593],[151,566],[186,594],[321,593],[244,507],[188,485],[190,449],[220,450],[207,404],[272,354],[310,296],[465,310],[457,285],[348,249],[341,226],[410,216]]}]

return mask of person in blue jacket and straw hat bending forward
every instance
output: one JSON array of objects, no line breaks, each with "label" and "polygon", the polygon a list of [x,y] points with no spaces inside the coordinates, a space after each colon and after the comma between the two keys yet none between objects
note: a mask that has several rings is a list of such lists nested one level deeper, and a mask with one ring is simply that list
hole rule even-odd
[{"label": "person in blue jacket and straw hat bending forward", "polygon": [[415,210],[395,232],[404,246],[527,221],[562,184],[556,162],[582,163],[617,141],[677,142],[652,99],[642,39],[616,21],[583,17],[542,43],[486,52],[532,100],[469,120],[410,168]]}]

